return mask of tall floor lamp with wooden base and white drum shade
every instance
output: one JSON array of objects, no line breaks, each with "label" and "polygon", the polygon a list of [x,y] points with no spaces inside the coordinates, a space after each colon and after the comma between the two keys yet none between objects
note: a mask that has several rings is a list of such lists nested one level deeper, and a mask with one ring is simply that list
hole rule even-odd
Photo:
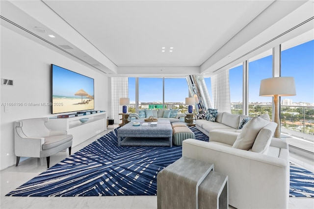
[{"label": "tall floor lamp with wooden base and white drum shade", "polygon": [[279,97],[295,95],[295,83],[293,77],[275,77],[261,80],[260,96],[274,97],[274,122],[277,123],[277,128],[274,134],[275,138],[280,138]]}]

